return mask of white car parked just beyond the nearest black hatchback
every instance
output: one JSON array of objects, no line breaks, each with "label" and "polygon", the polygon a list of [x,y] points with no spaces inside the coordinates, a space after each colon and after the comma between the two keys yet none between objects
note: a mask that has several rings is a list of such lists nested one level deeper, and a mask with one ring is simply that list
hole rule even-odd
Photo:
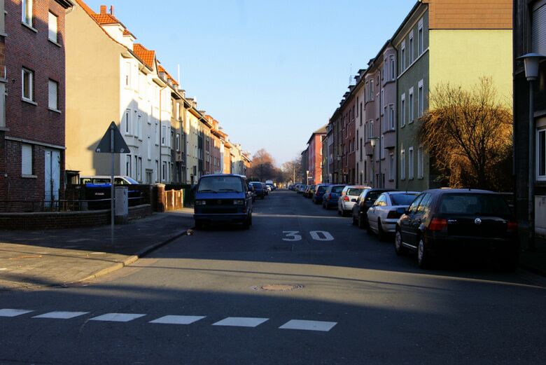
[{"label": "white car parked just beyond the nearest black hatchback", "polygon": [[394,234],[396,222],[417,195],[419,191],[387,191],[379,195],[370,209],[367,209],[367,232],[377,233],[381,241],[389,234]]}]

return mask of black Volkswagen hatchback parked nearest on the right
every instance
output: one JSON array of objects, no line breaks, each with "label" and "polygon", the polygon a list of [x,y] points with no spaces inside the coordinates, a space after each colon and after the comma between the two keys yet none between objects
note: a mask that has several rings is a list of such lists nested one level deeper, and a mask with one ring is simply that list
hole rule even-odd
[{"label": "black Volkswagen hatchback parked nearest on the right", "polygon": [[419,267],[440,256],[482,259],[494,255],[505,270],[518,263],[517,223],[499,193],[470,189],[423,191],[396,225],[395,251],[417,252]]}]

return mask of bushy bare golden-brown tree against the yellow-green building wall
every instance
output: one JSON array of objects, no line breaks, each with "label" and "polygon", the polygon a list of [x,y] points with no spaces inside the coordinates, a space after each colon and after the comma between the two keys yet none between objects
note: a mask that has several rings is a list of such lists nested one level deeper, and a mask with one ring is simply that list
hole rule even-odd
[{"label": "bushy bare golden-brown tree against the yellow-green building wall", "polygon": [[491,78],[481,78],[471,90],[437,86],[421,120],[420,142],[442,182],[510,189],[512,111],[498,102]]}]

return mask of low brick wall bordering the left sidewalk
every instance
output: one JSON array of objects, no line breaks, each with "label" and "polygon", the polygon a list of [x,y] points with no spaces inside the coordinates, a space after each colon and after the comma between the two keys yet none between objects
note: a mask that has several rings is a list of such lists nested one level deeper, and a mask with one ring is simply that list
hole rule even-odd
[{"label": "low brick wall bordering the left sidewalk", "polygon": [[[152,215],[149,204],[129,208],[129,219]],[[110,209],[85,212],[0,213],[0,230],[41,230],[106,226]]]}]

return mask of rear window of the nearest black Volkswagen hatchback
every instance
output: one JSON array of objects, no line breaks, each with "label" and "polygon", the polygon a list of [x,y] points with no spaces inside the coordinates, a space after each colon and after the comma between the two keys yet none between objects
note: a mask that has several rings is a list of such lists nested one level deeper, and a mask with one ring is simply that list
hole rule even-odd
[{"label": "rear window of the nearest black Volkswagen hatchback", "polygon": [[444,194],[440,214],[509,216],[510,207],[502,195],[496,194]]}]

